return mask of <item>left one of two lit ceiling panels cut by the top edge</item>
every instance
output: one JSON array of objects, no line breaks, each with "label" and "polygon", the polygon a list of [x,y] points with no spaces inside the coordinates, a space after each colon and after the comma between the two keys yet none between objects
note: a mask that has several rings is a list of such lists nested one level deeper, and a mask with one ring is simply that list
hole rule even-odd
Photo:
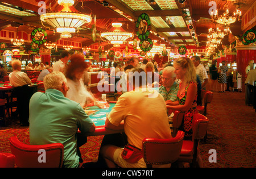
[{"label": "left one of two lit ceiling panels cut by the top edge", "polygon": [[145,0],[122,0],[134,11],[154,10]]}]

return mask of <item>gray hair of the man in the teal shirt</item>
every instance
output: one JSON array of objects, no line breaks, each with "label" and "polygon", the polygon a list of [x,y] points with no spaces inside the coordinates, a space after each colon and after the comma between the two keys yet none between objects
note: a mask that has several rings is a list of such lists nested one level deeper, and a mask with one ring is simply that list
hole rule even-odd
[{"label": "gray hair of the man in the teal shirt", "polygon": [[61,89],[63,82],[67,83],[67,78],[63,73],[55,71],[44,77],[44,88],[46,90],[49,88]]}]

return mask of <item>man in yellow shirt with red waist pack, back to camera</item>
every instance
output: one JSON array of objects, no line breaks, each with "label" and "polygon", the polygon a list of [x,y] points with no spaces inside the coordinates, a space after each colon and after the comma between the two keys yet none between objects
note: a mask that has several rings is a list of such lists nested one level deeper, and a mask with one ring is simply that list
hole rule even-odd
[{"label": "man in yellow shirt with red waist pack, back to camera", "polygon": [[[129,145],[137,148],[137,151],[141,151],[144,138],[168,139],[171,138],[171,130],[168,126],[166,103],[162,95],[155,90],[148,91],[143,85],[146,80],[143,79],[143,76],[140,76],[139,80],[135,80],[134,72],[144,73],[143,69],[135,68],[131,72],[133,74],[129,73],[128,78],[133,78],[133,91],[124,93],[118,98],[106,118],[105,126],[113,130],[124,128]],[[135,84],[135,81],[138,84]],[[150,97],[153,93],[156,96]],[[147,107],[145,108],[145,106]],[[114,141],[112,140],[112,142]],[[116,145],[105,144],[101,146],[100,154],[109,167],[116,167],[116,165],[123,168],[146,167],[142,152],[137,162],[130,163],[129,160],[123,159],[123,151],[123,148]]]}]

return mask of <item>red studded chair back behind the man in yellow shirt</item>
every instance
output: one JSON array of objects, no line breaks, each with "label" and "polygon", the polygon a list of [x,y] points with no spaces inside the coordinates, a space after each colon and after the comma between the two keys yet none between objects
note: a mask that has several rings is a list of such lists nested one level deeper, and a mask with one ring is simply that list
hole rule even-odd
[{"label": "red studded chair back behind the man in yellow shirt", "polygon": [[180,155],[184,132],[178,131],[175,138],[153,139],[145,138],[142,142],[143,158],[147,167],[152,165],[171,164]]}]

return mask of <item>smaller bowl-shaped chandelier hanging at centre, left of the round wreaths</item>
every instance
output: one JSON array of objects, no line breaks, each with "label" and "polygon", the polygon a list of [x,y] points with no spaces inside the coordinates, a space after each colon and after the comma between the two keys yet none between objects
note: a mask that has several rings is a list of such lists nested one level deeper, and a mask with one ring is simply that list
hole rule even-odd
[{"label": "smaller bowl-shaped chandelier hanging at centre, left of the round wreaths", "polygon": [[123,44],[124,41],[133,37],[132,33],[123,30],[122,23],[112,23],[112,26],[109,32],[101,33],[101,37],[108,39],[111,44],[118,46],[118,44]]}]

